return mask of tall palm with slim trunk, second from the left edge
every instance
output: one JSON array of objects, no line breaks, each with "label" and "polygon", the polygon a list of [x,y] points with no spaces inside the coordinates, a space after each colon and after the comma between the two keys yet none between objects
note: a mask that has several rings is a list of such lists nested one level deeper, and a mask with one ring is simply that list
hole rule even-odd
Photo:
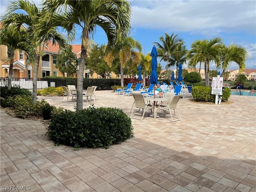
[{"label": "tall palm with slim trunk, second from the left edge", "polygon": [[[28,26],[28,35],[30,40],[34,42],[34,57],[35,63],[33,67],[33,93],[32,103],[35,104],[37,96],[37,78],[38,78],[38,66],[40,56],[44,55],[41,50],[41,46],[49,43],[58,44],[60,48],[64,47],[67,43],[64,37],[57,32],[55,23],[51,20],[54,18],[51,12],[47,9],[40,10],[36,4],[30,3],[28,0],[18,0],[16,2],[10,2],[8,5],[7,13],[4,16],[5,25],[15,24],[17,29],[20,29],[22,24]],[[16,10],[23,10],[25,13],[15,13]],[[44,46],[42,46],[44,47]],[[32,55],[29,55],[29,58]]]}]

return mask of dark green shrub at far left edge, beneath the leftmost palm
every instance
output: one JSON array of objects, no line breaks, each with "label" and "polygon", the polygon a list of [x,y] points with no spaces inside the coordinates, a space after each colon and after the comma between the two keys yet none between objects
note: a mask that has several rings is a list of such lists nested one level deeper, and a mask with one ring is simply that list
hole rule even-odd
[{"label": "dark green shrub at far left edge, beneath the leftmost palm", "polygon": [[2,107],[13,107],[14,106],[14,103],[13,103],[14,100],[9,100],[9,98],[11,98],[11,97],[15,97],[17,95],[32,97],[32,93],[29,90],[20,88],[20,86],[14,86],[10,90],[8,90],[7,86],[3,86],[0,88],[0,95],[1,95],[0,105]]}]

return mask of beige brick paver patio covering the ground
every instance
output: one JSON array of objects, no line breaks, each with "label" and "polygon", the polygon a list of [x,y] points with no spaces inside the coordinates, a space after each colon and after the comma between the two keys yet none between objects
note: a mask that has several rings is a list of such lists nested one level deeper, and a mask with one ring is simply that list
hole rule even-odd
[{"label": "beige brick paver patio covering the ground", "polygon": [[[74,110],[76,102],[39,97]],[[96,91],[84,108],[117,107],[130,116],[132,96]],[[103,148],[54,146],[42,122],[8,116],[3,109],[0,185],[36,192],[256,192],[256,97],[232,104],[198,104],[187,97],[182,120],[132,118],[134,138]],[[7,189],[6,189],[7,190]],[[27,191],[23,188],[20,191]]]}]

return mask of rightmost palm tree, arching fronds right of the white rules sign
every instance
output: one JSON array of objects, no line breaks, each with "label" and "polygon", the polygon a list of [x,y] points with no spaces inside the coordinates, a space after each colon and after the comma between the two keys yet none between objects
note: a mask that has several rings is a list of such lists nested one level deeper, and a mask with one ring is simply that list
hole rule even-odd
[{"label": "rightmost palm tree, arching fronds right of the white rules sign", "polygon": [[223,50],[222,50],[222,74],[221,76],[223,77],[228,66],[230,65],[230,62],[235,62],[239,66],[239,73],[244,72],[245,70],[245,61],[248,58],[248,53],[245,48],[230,44],[228,47],[223,45]]}]

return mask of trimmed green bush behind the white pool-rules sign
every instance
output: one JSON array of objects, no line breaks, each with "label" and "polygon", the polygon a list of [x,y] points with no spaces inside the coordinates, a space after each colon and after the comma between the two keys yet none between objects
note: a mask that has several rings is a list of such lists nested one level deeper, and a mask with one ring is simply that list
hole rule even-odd
[{"label": "trimmed green bush behind the white pool-rules sign", "polygon": [[[230,98],[231,90],[227,87],[222,91],[222,101],[228,101]],[[215,102],[215,95],[212,95],[212,88],[206,86],[193,86],[192,96],[195,100],[205,102]]]}]

